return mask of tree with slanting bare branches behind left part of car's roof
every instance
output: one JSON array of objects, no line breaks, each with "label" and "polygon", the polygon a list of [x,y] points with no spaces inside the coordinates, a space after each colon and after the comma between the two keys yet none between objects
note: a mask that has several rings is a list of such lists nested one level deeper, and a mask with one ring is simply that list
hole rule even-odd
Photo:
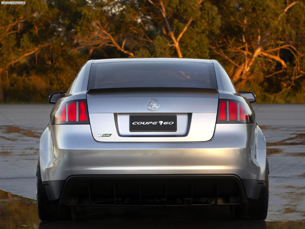
[{"label": "tree with slanting bare branches behind left part of car's roof", "polygon": [[152,42],[140,19],[137,1],[90,1],[81,14],[77,49],[88,49],[88,56],[96,49],[113,47],[132,58],[134,50]]}]

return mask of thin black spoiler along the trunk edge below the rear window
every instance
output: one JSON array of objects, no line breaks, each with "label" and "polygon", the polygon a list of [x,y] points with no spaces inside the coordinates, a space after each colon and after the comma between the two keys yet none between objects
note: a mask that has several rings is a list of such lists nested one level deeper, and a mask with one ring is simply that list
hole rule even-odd
[{"label": "thin black spoiler along the trunk edge below the rear window", "polygon": [[116,92],[195,92],[195,93],[218,93],[212,88],[107,88],[89,89],[87,94],[116,93]]}]

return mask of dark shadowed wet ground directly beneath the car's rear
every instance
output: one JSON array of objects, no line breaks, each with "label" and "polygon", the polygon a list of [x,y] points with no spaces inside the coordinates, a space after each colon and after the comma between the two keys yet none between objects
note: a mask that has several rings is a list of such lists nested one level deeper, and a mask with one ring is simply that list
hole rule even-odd
[{"label": "dark shadowed wet ground directly beneath the car's rear", "polygon": [[87,207],[71,222],[41,223],[39,228],[267,228],[265,221],[234,221],[227,207]]}]

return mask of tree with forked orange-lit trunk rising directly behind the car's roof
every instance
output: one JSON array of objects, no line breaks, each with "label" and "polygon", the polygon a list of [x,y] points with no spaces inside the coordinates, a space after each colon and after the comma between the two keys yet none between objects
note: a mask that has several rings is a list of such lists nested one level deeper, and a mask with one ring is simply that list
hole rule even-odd
[{"label": "tree with forked orange-lit trunk rising directly behind the car's roof", "polygon": [[[143,7],[144,15],[151,18],[157,34],[167,38],[179,58],[208,58],[208,34],[218,33],[218,9],[204,0],[167,1],[147,0],[155,9]],[[146,5],[147,6],[147,5]]]}]

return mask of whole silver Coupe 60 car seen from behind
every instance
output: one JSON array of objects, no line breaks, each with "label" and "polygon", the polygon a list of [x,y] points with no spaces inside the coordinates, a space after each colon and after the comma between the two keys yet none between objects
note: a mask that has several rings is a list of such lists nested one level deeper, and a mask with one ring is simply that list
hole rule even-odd
[{"label": "whole silver Coupe 60 car seen from behind", "polygon": [[[265,219],[268,162],[252,92],[198,59],[90,60],[40,139],[41,220],[75,206],[227,205]],[[199,208],[200,209],[200,208]]]}]

